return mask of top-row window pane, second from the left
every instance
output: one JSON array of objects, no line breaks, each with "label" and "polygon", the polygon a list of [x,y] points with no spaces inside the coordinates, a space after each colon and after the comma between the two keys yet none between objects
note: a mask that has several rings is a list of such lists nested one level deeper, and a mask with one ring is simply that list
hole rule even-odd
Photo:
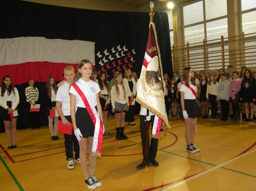
[{"label": "top-row window pane, second from the left", "polygon": [[227,14],[226,1],[224,0],[205,0],[206,20],[225,16]]}]

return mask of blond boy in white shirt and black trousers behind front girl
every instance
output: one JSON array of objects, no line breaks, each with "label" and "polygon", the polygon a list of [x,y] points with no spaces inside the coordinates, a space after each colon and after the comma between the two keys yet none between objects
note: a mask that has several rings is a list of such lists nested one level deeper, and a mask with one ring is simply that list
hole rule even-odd
[{"label": "blond boy in white shirt and black trousers behind front girl", "polygon": [[[71,120],[71,114],[70,114],[70,96],[69,96],[69,88],[71,84],[74,81],[75,73],[72,66],[66,66],[64,68],[64,78],[65,83],[62,84],[56,95],[56,109],[59,113],[59,120],[63,123],[65,126],[70,126],[72,123]],[[64,144],[65,144],[65,154],[67,156],[67,167],[68,169],[75,168],[74,162],[73,162],[73,145],[74,145],[74,151],[75,151],[75,160],[76,163],[80,163],[80,157],[79,157],[79,142],[75,136],[74,130],[72,128],[72,134],[65,134],[64,133]]]}]

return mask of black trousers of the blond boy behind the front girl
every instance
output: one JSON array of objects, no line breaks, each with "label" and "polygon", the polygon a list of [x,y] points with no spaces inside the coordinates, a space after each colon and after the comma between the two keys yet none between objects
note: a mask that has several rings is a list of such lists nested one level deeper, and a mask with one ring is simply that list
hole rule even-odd
[{"label": "black trousers of the blond boy behind the front girl", "polygon": [[[68,122],[72,122],[71,116],[65,116],[65,118],[68,120]],[[60,117],[59,117],[59,120],[61,120]],[[64,139],[65,139],[64,144],[65,144],[67,160],[74,159],[73,158],[73,146],[74,146],[74,151],[75,151],[75,159],[76,160],[79,159],[79,152],[80,152],[79,141],[77,141],[74,130],[72,129],[72,135],[64,133]]]}]

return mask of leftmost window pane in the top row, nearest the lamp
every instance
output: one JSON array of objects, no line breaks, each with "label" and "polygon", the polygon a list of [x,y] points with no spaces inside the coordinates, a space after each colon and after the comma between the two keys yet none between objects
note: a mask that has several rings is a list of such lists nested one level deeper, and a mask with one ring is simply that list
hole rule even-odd
[{"label": "leftmost window pane in the top row, nearest the lamp", "polygon": [[203,1],[183,7],[184,26],[204,20]]}]

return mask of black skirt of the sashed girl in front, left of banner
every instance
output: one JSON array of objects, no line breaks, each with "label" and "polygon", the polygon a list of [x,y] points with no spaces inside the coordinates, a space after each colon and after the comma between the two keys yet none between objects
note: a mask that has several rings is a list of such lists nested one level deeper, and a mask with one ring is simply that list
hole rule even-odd
[{"label": "black skirt of the sashed girl in front, left of banner", "polygon": [[[96,111],[97,111],[97,107]],[[93,137],[95,126],[86,108],[77,108],[76,126],[81,131],[83,138]]]}]

